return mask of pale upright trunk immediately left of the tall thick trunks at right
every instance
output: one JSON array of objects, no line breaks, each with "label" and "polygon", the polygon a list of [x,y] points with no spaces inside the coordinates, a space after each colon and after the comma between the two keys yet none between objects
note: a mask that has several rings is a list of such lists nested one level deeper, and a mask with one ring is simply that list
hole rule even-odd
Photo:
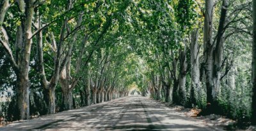
[{"label": "pale upright trunk immediately left of the tall thick trunks at right", "polygon": [[[199,46],[198,46],[198,29],[191,32],[190,45],[190,63],[191,63],[191,104],[198,105],[198,98],[201,97],[200,90],[200,63],[199,63]],[[202,104],[202,103],[200,103]]]}]

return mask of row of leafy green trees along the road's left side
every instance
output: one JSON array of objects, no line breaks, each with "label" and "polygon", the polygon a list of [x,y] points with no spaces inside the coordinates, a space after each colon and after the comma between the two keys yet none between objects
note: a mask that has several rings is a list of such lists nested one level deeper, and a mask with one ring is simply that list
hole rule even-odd
[{"label": "row of leafy green trees along the road's left side", "polygon": [[129,1],[113,2],[1,1],[1,90],[13,97],[9,112],[17,113],[10,119],[29,119],[36,102],[46,113],[56,112],[56,102],[61,111],[72,109],[75,88],[81,106],[127,95],[122,69],[129,50],[122,52],[115,38]]}]

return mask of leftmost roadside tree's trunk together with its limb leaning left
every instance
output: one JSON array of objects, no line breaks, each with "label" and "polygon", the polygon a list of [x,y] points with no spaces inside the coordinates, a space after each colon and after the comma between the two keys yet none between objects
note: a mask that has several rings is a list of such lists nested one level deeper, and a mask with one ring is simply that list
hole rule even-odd
[{"label": "leftmost roadside tree's trunk together with its limb leaning left", "polygon": [[38,3],[35,1],[18,1],[19,11],[23,18],[20,18],[19,27],[17,27],[15,39],[15,54],[13,57],[12,48],[10,46],[9,36],[3,26],[4,17],[10,8],[11,4],[8,0],[1,1],[1,45],[4,47],[6,55],[12,63],[12,68],[17,77],[17,107],[19,108],[19,118],[21,120],[29,119],[29,63],[30,53],[33,39],[32,21],[34,16],[35,6]]}]

